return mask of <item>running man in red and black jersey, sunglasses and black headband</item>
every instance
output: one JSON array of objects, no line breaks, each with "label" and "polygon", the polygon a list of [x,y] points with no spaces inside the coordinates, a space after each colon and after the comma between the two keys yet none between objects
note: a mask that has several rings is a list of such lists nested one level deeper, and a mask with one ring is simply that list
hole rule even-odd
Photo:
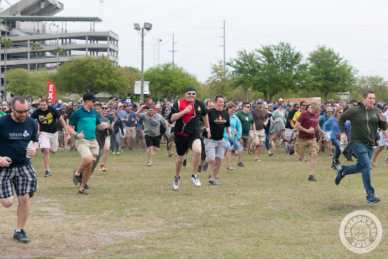
[{"label": "running man in red and black jersey, sunglasses and black headband", "polygon": [[174,177],[173,189],[178,190],[180,180],[180,170],[182,169],[186,151],[193,150],[193,174],[191,181],[195,187],[200,187],[197,169],[201,159],[202,145],[199,135],[199,119],[203,118],[206,130],[210,131],[209,117],[205,104],[195,99],[195,88],[186,88],[186,99],[178,100],[171,107],[171,122],[176,121],[174,127],[175,145],[177,147],[176,173]]}]

